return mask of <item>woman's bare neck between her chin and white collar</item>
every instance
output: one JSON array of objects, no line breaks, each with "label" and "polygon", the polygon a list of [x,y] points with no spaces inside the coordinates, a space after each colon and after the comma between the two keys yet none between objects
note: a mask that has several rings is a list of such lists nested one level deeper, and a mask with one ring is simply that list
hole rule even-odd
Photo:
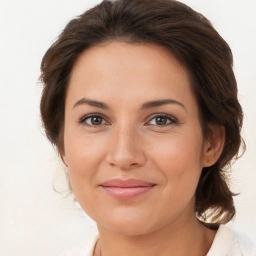
[{"label": "woman's bare neck between her chin and white collar", "polygon": [[205,256],[216,233],[195,216],[139,235],[114,233],[100,225],[98,231],[100,242],[95,247],[95,256]]}]

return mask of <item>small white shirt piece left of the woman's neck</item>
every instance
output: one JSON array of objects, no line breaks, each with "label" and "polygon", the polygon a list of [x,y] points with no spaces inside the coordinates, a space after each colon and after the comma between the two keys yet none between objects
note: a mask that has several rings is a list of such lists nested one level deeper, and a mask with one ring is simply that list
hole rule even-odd
[{"label": "small white shirt piece left of the woman's neck", "polygon": [[85,243],[81,244],[79,247],[72,249],[64,254],[61,254],[61,256],[92,256],[98,238],[98,234],[95,234],[93,237],[91,237]]}]

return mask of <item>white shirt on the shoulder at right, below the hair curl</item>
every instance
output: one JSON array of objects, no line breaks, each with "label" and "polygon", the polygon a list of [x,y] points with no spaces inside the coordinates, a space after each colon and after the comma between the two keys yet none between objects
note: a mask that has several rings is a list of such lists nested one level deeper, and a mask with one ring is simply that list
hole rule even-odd
[{"label": "white shirt on the shoulder at right, below the hair curl", "polygon": [[206,256],[256,256],[252,241],[242,233],[220,225]]}]

